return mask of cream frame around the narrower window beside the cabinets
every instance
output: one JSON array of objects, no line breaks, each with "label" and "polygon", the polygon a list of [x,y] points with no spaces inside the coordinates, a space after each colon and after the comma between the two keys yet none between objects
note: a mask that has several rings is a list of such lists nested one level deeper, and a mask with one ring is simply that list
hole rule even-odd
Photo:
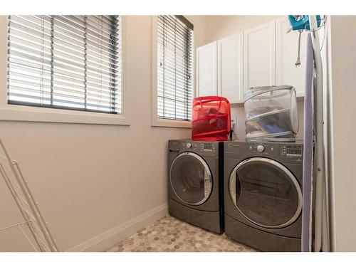
[{"label": "cream frame around the narrower window beside the cabinets", "polygon": [[[169,120],[161,119],[157,114],[157,16],[152,16],[152,105],[151,105],[151,124],[156,127],[182,127],[192,128],[190,120]],[[195,45],[193,45],[193,68],[195,70]],[[195,73],[193,75],[195,77]],[[195,78],[193,81],[192,98],[195,97]]]}]

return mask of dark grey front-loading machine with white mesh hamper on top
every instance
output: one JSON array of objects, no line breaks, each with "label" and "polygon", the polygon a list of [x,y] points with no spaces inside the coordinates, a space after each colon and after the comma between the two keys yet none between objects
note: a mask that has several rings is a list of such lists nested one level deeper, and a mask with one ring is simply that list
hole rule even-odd
[{"label": "dark grey front-loading machine with white mesh hamper on top", "polygon": [[224,221],[261,251],[300,251],[303,142],[224,143]]}]

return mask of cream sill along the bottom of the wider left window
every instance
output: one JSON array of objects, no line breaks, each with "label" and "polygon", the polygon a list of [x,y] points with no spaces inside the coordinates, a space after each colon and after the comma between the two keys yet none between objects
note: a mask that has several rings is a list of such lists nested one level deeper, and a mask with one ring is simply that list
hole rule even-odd
[{"label": "cream sill along the bottom of the wider left window", "polygon": [[4,107],[1,107],[0,120],[130,125],[130,120],[122,114],[116,115],[88,111],[56,110],[51,108],[36,108],[20,105],[5,105]]}]

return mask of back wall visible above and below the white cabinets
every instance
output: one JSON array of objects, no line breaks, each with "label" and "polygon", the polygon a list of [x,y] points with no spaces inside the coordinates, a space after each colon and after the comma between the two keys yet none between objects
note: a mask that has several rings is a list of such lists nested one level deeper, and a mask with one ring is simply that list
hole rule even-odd
[{"label": "back wall visible above and below the white cabinets", "polygon": [[[282,16],[206,16],[206,43],[241,33],[249,28],[279,19]],[[298,102],[299,131],[297,138],[303,139],[304,120],[303,100]],[[237,117],[237,139],[244,139],[245,113],[243,105],[232,105],[231,118]]]}]

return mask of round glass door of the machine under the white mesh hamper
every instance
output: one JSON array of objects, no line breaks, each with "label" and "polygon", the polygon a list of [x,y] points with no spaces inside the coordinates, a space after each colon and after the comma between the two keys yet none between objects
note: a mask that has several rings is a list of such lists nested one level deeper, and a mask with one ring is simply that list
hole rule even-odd
[{"label": "round glass door of the machine under the white mesh hamper", "polygon": [[302,209],[297,179],[273,159],[253,157],[240,162],[231,172],[229,192],[248,221],[268,229],[293,224]]}]

